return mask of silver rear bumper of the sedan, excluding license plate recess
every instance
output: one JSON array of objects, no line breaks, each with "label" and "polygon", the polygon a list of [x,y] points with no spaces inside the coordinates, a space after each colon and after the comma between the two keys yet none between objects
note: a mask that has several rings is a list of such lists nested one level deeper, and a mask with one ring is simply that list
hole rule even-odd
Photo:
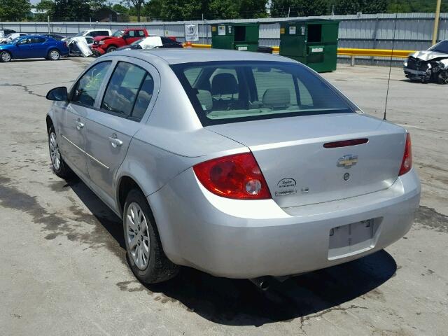
[{"label": "silver rear bumper of the sedan, excluding license plate recess", "polygon": [[[407,233],[419,200],[414,169],[386,190],[286,209],[213,195],[192,169],[148,196],[168,258],[229,278],[300,274],[378,251]],[[372,218],[377,230],[368,248],[329,257],[332,228]]]}]

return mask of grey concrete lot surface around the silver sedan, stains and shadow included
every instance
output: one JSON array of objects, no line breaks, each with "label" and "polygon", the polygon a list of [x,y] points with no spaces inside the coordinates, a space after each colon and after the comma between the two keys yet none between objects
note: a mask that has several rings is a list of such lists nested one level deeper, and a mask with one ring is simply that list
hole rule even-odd
[{"label": "grey concrete lot surface around the silver sedan, stains and shadow included", "polygon": [[[141,285],[120,220],[84,183],[52,174],[45,94],[90,62],[0,64],[0,335],[447,335],[448,86],[391,72],[387,119],[411,132],[422,182],[406,237],[265,295],[194,269]],[[383,116],[388,69],[323,76]]]}]

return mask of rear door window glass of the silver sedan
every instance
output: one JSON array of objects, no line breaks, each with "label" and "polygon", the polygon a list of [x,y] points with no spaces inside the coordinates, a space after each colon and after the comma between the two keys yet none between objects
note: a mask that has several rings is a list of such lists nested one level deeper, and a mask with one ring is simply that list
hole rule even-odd
[{"label": "rear door window glass of the silver sedan", "polygon": [[141,120],[153,96],[153,78],[140,66],[119,62],[107,85],[101,108]]}]

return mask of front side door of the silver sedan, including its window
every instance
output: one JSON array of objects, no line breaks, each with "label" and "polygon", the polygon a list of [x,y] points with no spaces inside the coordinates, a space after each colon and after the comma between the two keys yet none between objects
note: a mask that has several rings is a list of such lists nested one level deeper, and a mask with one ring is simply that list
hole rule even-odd
[{"label": "front side door of the silver sedan, including its window", "polygon": [[86,116],[94,107],[99,89],[106,77],[111,61],[97,63],[79,78],[71,90],[70,102],[61,110],[59,147],[62,156],[76,174],[88,179],[85,158]]}]

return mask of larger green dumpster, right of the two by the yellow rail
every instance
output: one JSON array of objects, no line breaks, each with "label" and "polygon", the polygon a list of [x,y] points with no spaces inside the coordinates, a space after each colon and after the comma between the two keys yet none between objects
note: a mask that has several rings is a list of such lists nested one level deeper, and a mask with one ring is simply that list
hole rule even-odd
[{"label": "larger green dumpster, right of the two by the yellow rail", "polygon": [[326,19],[280,22],[280,55],[317,72],[336,70],[339,21]]}]

